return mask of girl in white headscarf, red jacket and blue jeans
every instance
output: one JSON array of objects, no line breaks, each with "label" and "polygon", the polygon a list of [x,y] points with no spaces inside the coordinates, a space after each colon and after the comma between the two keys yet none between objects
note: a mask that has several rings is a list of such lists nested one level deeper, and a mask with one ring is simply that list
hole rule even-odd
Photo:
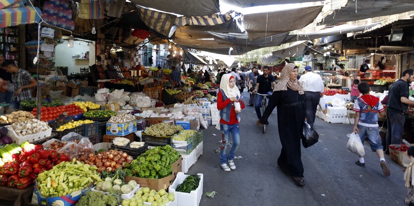
[{"label": "girl in white headscarf, red jacket and blue jeans", "polygon": [[[236,169],[234,163],[235,153],[240,144],[239,121],[240,111],[235,109],[235,104],[240,103],[240,108],[244,108],[243,101],[240,100],[240,91],[236,86],[236,80],[233,75],[223,75],[220,82],[220,90],[217,94],[217,109],[220,111],[220,130],[222,131],[222,145],[220,151],[220,167],[225,171]],[[232,134],[233,145],[227,155],[229,147],[230,134]],[[229,162],[229,165],[227,165]]]}]

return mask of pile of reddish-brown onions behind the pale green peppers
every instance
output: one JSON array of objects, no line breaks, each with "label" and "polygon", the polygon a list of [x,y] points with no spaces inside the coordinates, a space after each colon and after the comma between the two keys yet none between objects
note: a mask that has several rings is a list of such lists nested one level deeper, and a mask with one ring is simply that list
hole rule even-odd
[{"label": "pile of reddish-brown onions behind the pale green peppers", "polygon": [[110,150],[108,152],[103,151],[97,155],[83,155],[79,158],[80,162],[84,162],[89,165],[96,165],[99,173],[104,170],[113,172],[118,168],[124,168],[125,163],[130,164],[133,160],[134,159],[131,156],[118,150]]}]

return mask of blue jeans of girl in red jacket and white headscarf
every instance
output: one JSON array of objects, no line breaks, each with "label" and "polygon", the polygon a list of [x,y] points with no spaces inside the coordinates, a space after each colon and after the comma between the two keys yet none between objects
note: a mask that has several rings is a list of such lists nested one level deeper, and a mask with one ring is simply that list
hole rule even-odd
[{"label": "blue jeans of girl in red jacket and white headscarf", "polygon": [[[222,145],[220,148],[220,164],[225,164],[227,163],[227,160],[233,160],[235,158],[236,150],[240,144],[240,128],[238,127],[238,124],[220,124],[220,130],[223,132]],[[233,145],[229,155],[227,155],[230,133],[233,137]]]}]

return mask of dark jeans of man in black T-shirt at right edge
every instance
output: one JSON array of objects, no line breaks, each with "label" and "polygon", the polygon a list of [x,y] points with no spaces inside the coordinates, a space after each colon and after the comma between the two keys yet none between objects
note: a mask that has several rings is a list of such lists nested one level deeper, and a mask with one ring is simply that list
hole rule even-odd
[{"label": "dark jeans of man in black T-shirt at right edge", "polygon": [[406,123],[406,116],[403,113],[390,112],[387,110],[387,135],[386,151],[390,144],[401,144],[404,133],[404,124]]}]

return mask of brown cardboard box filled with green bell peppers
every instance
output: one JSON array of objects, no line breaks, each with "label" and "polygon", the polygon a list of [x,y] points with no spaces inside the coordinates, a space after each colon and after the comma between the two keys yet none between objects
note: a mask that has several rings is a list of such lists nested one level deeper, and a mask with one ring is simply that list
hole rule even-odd
[{"label": "brown cardboard box filled with green bell peppers", "polygon": [[132,176],[125,176],[125,182],[129,182],[130,180],[135,180],[137,184],[141,187],[149,187],[150,189],[154,189],[159,191],[161,189],[167,190],[168,187],[174,182],[177,177],[177,173],[181,171],[181,156],[178,160],[171,165],[173,169],[173,174],[170,176],[161,178],[161,179],[149,179],[149,178],[141,178],[141,177],[132,177]]}]

